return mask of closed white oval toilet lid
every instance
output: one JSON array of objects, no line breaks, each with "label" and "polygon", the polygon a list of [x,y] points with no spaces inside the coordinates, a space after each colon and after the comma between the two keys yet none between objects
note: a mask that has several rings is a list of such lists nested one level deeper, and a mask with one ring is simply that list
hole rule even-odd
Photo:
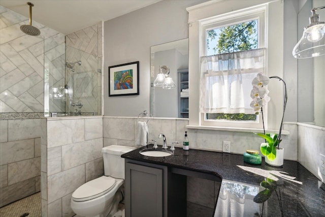
[{"label": "closed white oval toilet lid", "polygon": [[111,191],[116,183],[116,179],[110,176],[102,176],[81,185],[73,194],[74,201],[86,201],[100,197]]}]

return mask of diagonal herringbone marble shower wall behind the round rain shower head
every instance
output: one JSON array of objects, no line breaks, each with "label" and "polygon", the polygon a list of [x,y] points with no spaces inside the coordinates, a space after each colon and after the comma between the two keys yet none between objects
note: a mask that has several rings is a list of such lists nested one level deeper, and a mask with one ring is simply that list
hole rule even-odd
[{"label": "diagonal herringbone marble shower wall behind the round rain shower head", "polygon": [[0,6],[0,112],[44,111],[44,38],[64,43],[64,35],[37,22],[40,36],[20,25],[29,18]]}]

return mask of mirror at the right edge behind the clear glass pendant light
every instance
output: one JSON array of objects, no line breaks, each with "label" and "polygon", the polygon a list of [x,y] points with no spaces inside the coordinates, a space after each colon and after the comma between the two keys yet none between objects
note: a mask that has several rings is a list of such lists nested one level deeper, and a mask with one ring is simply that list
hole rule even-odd
[{"label": "mirror at the right edge behind the clear glass pendant light", "polygon": [[[304,26],[309,24],[310,10],[323,5],[306,1],[298,13],[298,39]],[[314,4],[313,4],[314,3]],[[317,10],[320,21],[325,19],[325,9]],[[325,127],[325,55],[298,59],[298,122]]]}]

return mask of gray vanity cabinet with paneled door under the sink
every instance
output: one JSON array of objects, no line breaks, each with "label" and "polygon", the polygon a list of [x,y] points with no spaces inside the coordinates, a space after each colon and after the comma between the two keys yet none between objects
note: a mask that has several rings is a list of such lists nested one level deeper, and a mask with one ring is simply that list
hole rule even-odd
[{"label": "gray vanity cabinet with paneled door under the sink", "polygon": [[125,216],[186,216],[186,176],[167,166],[125,160]]}]

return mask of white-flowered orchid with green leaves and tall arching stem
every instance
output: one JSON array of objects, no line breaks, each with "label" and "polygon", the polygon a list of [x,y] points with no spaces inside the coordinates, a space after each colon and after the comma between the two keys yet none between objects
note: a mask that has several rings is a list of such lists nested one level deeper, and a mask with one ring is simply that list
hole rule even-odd
[{"label": "white-flowered orchid with green leaves and tall arching stem", "polygon": [[[268,96],[269,90],[266,88],[266,85],[269,84],[271,78],[277,78],[284,83],[283,113],[282,113],[280,130],[278,134],[265,133],[265,126],[264,126],[263,106],[265,106],[270,101],[270,97]],[[263,75],[262,73],[258,73],[257,76],[253,79],[252,85],[253,85],[253,89],[250,92],[250,97],[253,100],[250,103],[250,107],[254,108],[255,114],[259,114],[259,112],[262,113],[263,130],[264,130],[264,134],[262,133],[255,133],[255,134],[265,139],[265,143],[261,144],[261,152],[264,156],[268,157],[270,161],[273,161],[276,158],[276,149],[279,149],[279,144],[282,141],[281,131],[282,131],[283,116],[284,116],[284,111],[285,111],[285,106],[287,101],[286,84],[284,80],[278,76],[268,77],[266,75]]]}]

